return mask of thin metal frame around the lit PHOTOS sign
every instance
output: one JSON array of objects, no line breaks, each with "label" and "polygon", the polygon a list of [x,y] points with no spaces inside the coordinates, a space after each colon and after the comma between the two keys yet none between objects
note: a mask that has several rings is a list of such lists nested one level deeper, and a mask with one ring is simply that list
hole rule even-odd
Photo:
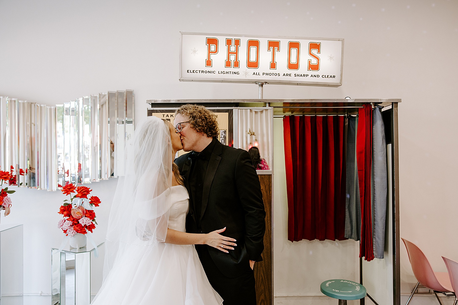
[{"label": "thin metal frame around the lit PHOTOS sign", "polygon": [[[183,35],[200,35],[200,36],[226,36],[226,37],[252,37],[252,38],[274,38],[274,39],[308,39],[308,40],[329,40],[329,41],[341,41],[342,52],[341,52],[341,63],[340,63],[340,82],[320,82],[320,81],[289,81],[289,80],[272,80],[272,79],[246,79],[246,80],[234,80],[229,78],[202,78],[202,77],[184,77],[182,75],[182,58],[183,58]],[[295,37],[295,36],[267,36],[267,35],[240,35],[240,34],[221,34],[221,33],[200,33],[200,32],[181,32],[180,31],[180,65],[179,65],[180,81],[198,81],[198,82],[217,82],[217,83],[242,83],[242,84],[275,84],[275,85],[300,85],[300,86],[328,86],[338,87],[342,86],[342,77],[344,70],[344,38],[320,38],[320,37]]]}]

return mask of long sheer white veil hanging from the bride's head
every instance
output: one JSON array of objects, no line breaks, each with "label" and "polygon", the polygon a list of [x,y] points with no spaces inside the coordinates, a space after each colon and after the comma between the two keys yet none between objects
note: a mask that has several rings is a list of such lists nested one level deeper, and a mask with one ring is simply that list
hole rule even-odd
[{"label": "long sheer white veil hanging from the bride's head", "polygon": [[[137,126],[129,142],[125,176],[119,177],[109,215],[100,290],[107,285],[112,289],[118,286],[110,273],[133,277],[135,268],[141,268],[137,262],[154,247],[160,247],[167,235],[172,184],[169,128],[162,119],[148,117]],[[123,282],[129,283],[129,278]],[[117,292],[122,295],[121,291],[113,291]]]}]

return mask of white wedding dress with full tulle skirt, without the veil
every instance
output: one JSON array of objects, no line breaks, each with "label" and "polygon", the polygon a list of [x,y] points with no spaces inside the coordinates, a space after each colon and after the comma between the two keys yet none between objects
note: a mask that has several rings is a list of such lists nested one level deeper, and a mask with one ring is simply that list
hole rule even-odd
[{"label": "white wedding dress with full tulle skirt, without the veil", "polygon": [[[168,227],[185,232],[189,195],[185,187],[170,187]],[[223,300],[208,282],[194,245],[159,242],[138,259],[114,268],[93,305],[221,305]]]}]

